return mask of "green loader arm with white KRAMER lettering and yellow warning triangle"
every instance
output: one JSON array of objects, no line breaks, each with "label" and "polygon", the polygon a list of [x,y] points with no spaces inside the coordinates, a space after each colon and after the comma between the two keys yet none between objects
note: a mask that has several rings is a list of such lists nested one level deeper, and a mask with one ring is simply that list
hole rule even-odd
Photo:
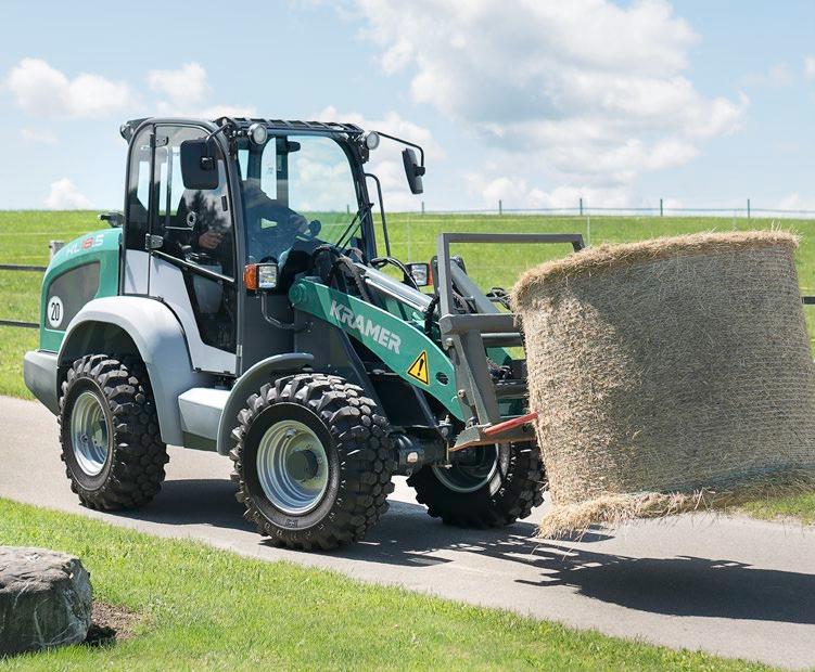
[{"label": "green loader arm with white KRAMER lettering and yellow warning triangle", "polygon": [[463,419],[453,363],[417,326],[375,306],[302,279],[289,292],[292,305],[333,324],[366,346],[394,373],[441,401]]}]

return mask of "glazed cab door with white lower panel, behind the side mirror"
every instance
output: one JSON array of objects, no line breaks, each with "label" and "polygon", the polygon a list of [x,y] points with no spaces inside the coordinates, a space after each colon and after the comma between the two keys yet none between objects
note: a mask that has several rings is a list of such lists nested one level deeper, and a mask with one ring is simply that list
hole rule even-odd
[{"label": "glazed cab door with white lower panel, behind the side mirror", "polygon": [[[184,189],[181,177],[181,144],[206,135],[205,129],[194,126],[153,127],[148,228],[143,251],[132,264],[131,285],[141,283],[143,287],[145,270],[143,293],[162,300],[176,314],[194,369],[233,375],[237,264],[226,160],[217,158],[219,180],[213,190]],[[142,255],[147,269],[141,266]],[[127,285],[127,273],[125,279]]]}]

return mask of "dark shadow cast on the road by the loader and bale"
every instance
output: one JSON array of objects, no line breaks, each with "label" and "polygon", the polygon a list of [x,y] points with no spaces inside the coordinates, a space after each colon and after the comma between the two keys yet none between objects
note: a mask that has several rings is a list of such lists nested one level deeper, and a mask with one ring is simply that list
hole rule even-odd
[{"label": "dark shadow cast on the road by the loader and bale", "polygon": [[[537,580],[518,582],[539,591],[540,599],[546,599],[547,587],[565,585],[586,597],[651,613],[815,623],[815,574],[727,559],[607,554],[583,547],[609,539],[599,531],[574,540],[580,546],[573,547],[534,539],[535,526],[526,522],[464,530],[446,527],[425,512],[419,504],[392,501],[390,512],[362,542],[330,555],[421,568],[454,561],[440,552],[474,553],[499,560],[505,569],[518,565],[538,570]],[[174,526],[254,530],[242,514],[230,481],[193,479],[167,481],[155,502],[126,515]],[[258,543],[264,543],[259,537]]]}]

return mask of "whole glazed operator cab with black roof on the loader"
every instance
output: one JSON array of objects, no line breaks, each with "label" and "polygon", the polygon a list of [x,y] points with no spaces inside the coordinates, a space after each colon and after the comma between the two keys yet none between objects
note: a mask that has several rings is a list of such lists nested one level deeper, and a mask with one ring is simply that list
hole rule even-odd
[{"label": "whole glazed operator cab with black roof on the loader", "polygon": [[[291,321],[286,283],[313,253],[331,245],[375,256],[361,133],[352,125],[246,119],[128,122],[120,293],[165,302],[199,371],[239,376],[291,352],[292,331],[264,313]],[[202,146],[207,175],[186,181],[184,161]],[[264,261],[279,264],[282,282],[262,309],[243,271]]]}]

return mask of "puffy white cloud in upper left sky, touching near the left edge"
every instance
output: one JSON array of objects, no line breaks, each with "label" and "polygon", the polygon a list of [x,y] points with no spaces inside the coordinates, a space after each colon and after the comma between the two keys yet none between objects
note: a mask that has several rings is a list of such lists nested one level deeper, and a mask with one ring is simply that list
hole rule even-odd
[{"label": "puffy white cloud in upper left sky, touching near the left edge", "polygon": [[41,117],[98,118],[130,104],[130,89],[88,73],[74,79],[40,59],[23,59],[5,85],[24,112]]}]

